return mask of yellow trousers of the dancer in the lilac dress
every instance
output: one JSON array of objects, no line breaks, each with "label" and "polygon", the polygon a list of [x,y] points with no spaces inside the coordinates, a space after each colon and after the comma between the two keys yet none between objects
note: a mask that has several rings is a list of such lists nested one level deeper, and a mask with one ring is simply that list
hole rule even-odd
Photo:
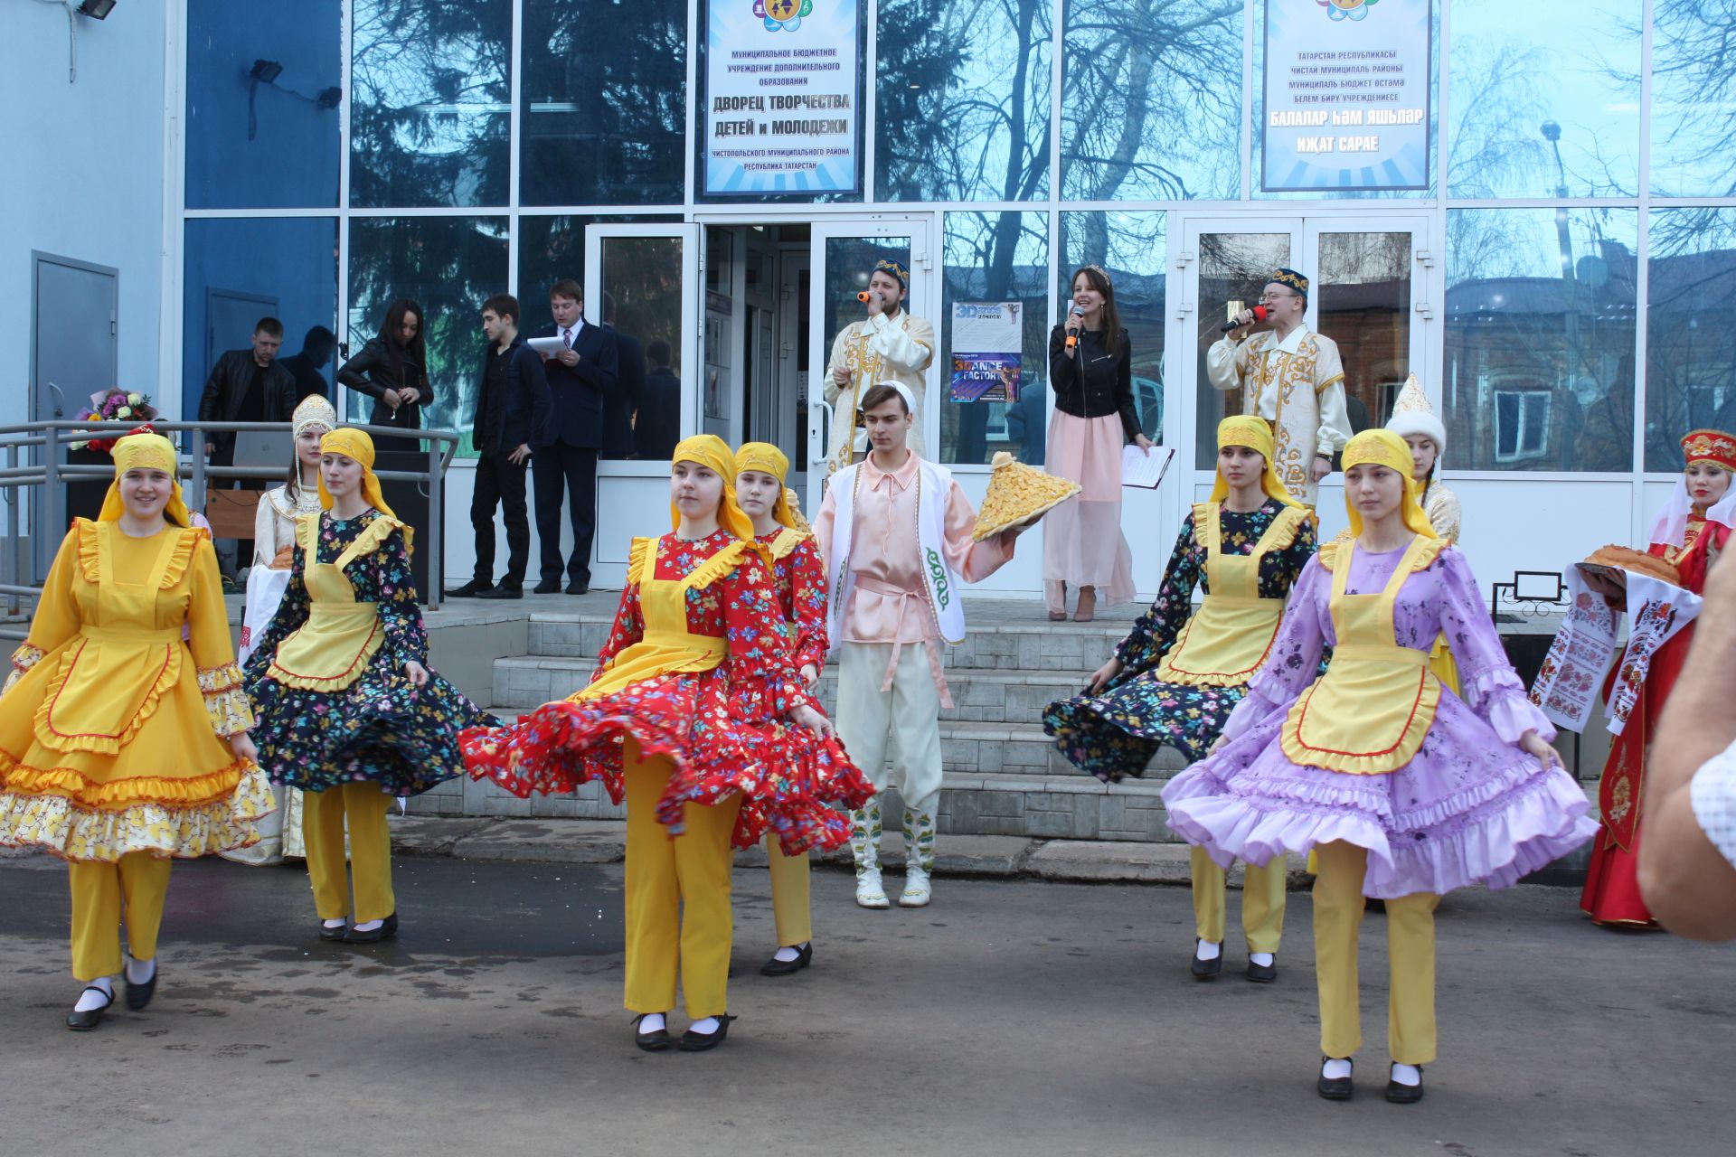
[{"label": "yellow trousers of the dancer in the lilac dress", "polygon": [[[1314,973],[1319,980],[1319,1051],[1351,1056],[1363,1046],[1356,978],[1356,937],[1363,926],[1363,874],[1368,850],[1351,843],[1316,848]],[[1401,1065],[1434,1060],[1434,907],[1432,892],[1387,900],[1387,1049]]]}]

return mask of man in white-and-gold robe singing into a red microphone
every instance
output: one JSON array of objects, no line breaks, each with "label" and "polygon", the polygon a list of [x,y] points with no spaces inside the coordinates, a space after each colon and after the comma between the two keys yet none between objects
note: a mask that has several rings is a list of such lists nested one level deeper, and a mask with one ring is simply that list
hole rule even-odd
[{"label": "man in white-and-gold robe singing into a red microphone", "polygon": [[1338,343],[1302,323],[1307,278],[1278,269],[1260,295],[1269,333],[1243,342],[1257,317],[1236,314],[1236,328],[1212,343],[1205,373],[1215,390],[1241,389],[1241,413],[1272,423],[1278,442],[1272,468],[1285,487],[1309,507],[1319,480],[1332,474],[1332,456],[1351,441],[1344,408],[1344,363]]}]

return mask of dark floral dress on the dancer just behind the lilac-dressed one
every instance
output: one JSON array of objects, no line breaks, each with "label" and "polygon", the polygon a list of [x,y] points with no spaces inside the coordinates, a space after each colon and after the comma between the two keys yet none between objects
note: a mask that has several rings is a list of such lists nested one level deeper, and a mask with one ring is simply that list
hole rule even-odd
[{"label": "dark floral dress on the dancer just behind the lilac-dressed one", "polygon": [[[1255,543],[1281,510],[1272,500],[1248,513],[1226,507],[1222,553],[1253,553]],[[1043,711],[1043,730],[1055,737],[1061,753],[1080,770],[1109,782],[1123,775],[1142,775],[1163,744],[1170,744],[1189,762],[1201,760],[1224,730],[1229,713],[1248,694],[1246,683],[1193,687],[1156,678],[1158,664],[1193,614],[1194,586],[1210,593],[1205,553],[1189,513],[1182,520],[1158,597],[1115,649],[1121,673],[1102,694],[1061,699]],[[1260,560],[1260,597],[1288,597],[1312,553],[1314,526],[1304,520],[1288,546],[1271,550]]]}]

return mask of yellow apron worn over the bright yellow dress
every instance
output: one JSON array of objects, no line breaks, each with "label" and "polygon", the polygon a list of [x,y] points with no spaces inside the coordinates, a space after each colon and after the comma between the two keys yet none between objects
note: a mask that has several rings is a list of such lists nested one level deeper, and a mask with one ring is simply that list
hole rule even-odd
[{"label": "yellow apron worn over the bright yellow dress", "polygon": [[[78,628],[80,638],[61,656],[61,670],[49,697],[36,713],[36,739],[52,751],[95,751],[118,755],[148,718],[161,696],[181,680],[186,647],[181,624],[156,623],[156,593],[163,586],[181,531],[161,533],[156,562],[142,583],[113,571],[113,522],[95,524],[97,607],[95,623]],[[130,576],[128,576],[130,578]]]}]

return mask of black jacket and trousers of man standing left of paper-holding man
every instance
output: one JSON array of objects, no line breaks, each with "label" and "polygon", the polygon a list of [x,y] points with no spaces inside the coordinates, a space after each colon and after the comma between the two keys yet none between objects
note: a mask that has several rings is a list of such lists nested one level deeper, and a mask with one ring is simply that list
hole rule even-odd
[{"label": "black jacket and trousers of man standing left of paper-holding man", "polygon": [[543,376],[542,357],[524,343],[523,337],[500,357],[505,373],[496,378],[502,389],[490,389],[490,368],[495,364],[496,345],[483,350],[479,389],[476,390],[476,416],[472,439],[476,442],[476,489],[470,494],[470,529],[476,531],[477,586],[495,583],[495,507],[505,508],[507,519],[507,574],[502,586],[524,585],[524,567],[531,557],[531,524],[524,507],[524,472],[528,461],[512,461],[519,446],[536,446],[549,425],[549,378]]}]

